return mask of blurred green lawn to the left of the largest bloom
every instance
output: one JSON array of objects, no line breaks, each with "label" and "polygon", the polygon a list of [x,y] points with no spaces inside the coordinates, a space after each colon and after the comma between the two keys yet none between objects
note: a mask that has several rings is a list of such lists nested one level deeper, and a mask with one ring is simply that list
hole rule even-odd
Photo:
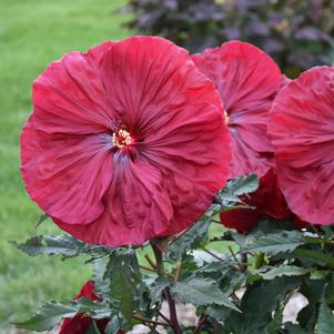
[{"label": "blurred green lawn to the left of the largest bloom", "polygon": [[[40,211],[19,172],[19,135],[33,79],[62,53],[131,32],[114,10],[124,0],[0,0],[0,328],[42,303],[71,298],[90,276],[83,260],[28,257],[8,241],[33,233]],[[39,233],[59,233],[50,221]]]}]

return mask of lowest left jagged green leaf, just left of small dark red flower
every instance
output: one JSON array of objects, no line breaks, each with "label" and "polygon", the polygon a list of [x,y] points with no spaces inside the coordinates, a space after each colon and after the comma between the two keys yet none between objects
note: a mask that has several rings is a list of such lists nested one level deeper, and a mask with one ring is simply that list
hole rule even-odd
[{"label": "lowest left jagged green leaf, just left of small dark red flower", "polygon": [[64,305],[51,302],[42,306],[30,320],[14,322],[13,324],[19,328],[43,332],[58,325],[63,317],[73,317],[78,312],[79,307],[75,303]]}]

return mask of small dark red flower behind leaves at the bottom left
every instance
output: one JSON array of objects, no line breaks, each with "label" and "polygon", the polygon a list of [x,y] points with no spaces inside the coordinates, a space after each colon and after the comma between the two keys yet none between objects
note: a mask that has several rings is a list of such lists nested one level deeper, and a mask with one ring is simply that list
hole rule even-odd
[{"label": "small dark red flower behind leaves at the bottom left", "polygon": [[[87,282],[81,289],[80,293],[74,297],[79,300],[80,297],[88,297],[91,301],[100,301],[100,298],[94,294],[94,282]],[[95,320],[95,324],[101,333],[104,333],[109,320],[101,318]],[[59,334],[84,334],[92,324],[92,318],[84,316],[84,314],[78,313],[74,317],[65,318],[62,322]],[[119,332],[121,334],[123,332]]]}]

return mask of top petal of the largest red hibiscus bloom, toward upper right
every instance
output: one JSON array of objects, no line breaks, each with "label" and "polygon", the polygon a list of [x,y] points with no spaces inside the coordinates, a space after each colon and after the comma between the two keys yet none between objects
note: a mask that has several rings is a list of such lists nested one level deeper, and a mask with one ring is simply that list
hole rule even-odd
[{"label": "top petal of the largest red hibiscus bloom, toward upper right", "polygon": [[107,55],[103,83],[120,121],[132,132],[140,129],[143,141],[164,125],[180,128],[190,114],[188,105],[212,103],[222,110],[219,95],[209,97],[212,83],[189,53],[162,38],[132,37],[114,45]]}]

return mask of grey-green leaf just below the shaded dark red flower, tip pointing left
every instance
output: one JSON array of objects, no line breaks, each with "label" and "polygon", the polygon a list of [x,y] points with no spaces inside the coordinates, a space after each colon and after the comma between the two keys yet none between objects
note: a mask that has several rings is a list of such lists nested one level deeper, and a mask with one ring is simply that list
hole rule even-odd
[{"label": "grey-green leaf just below the shaded dark red flower, tip pointing left", "polygon": [[252,239],[244,252],[262,252],[270,255],[293,252],[304,243],[298,231],[282,231]]}]

